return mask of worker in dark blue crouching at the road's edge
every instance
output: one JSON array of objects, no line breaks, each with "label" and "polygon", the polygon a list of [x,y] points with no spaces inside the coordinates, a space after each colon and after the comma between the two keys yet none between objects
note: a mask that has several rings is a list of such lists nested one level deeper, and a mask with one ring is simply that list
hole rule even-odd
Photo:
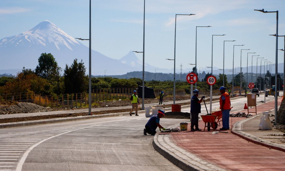
[{"label": "worker in dark blue crouching at the road's edge", "polygon": [[159,120],[160,118],[162,118],[162,116],[164,117],[164,110],[158,110],[158,114],[155,114],[153,116],[151,116],[151,118],[149,118],[149,120],[147,121],[147,123],[145,124],[145,128],[143,130],[143,134],[146,135],[146,133],[151,134],[151,135],[155,135],[156,134],[156,128],[158,127],[159,130],[166,130],[165,128],[163,128],[160,124],[159,124]]}]

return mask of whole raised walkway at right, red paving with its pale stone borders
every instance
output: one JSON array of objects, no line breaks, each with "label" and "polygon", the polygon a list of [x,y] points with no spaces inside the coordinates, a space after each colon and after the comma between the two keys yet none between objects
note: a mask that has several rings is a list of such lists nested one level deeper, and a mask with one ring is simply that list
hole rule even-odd
[{"label": "whole raised walkway at right, red paving with its pale stone borders", "polygon": [[[278,98],[278,106],[281,99]],[[271,109],[274,101],[257,106],[257,113]],[[230,127],[234,124],[229,133],[211,134],[212,130],[160,133],[154,136],[153,146],[183,170],[284,170],[283,133],[275,129],[258,130],[260,117],[230,118]],[[204,123],[199,124],[203,130]]]}]

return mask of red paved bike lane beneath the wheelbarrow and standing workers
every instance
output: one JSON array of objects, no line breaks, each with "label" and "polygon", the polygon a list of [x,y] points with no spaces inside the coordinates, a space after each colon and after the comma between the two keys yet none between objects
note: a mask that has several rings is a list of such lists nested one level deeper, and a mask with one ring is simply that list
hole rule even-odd
[{"label": "red paved bike lane beneath the wheelbarrow and standing workers", "polygon": [[[281,98],[278,99],[278,105],[280,103]],[[257,106],[257,113],[273,108],[274,101],[261,104]],[[251,110],[253,109],[251,108]],[[231,119],[235,123],[245,118],[230,118],[230,127]],[[199,124],[203,130],[203,121],[200,121]],[[218,127],[218,130],[221,126]],[[212,131],[187,131],[170,134],[170,140],[201,159],[228,170],[285,170],[284,152],[251,143],[230,131],[227,132],[229,133],[211,134]]]}]

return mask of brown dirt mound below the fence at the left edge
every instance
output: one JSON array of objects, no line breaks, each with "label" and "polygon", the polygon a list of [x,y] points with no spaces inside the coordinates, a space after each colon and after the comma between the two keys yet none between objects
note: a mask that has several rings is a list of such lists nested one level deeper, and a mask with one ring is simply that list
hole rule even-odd
[{"label": "brown dirt mound below the fence at the left edge", "polygon": [[46,112],[51,110],[50,108],[26,102],[0,106],[0,114]]}]

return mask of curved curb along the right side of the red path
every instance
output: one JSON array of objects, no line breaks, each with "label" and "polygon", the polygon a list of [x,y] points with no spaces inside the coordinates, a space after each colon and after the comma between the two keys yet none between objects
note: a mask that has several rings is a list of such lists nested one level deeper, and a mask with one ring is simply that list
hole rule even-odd
[{"label": "curved curb along the right side of the red path", "polygon": [[282,145],[282,144],[277,144],[277,143],[274,143],[274,142],[270,142],[270,141],[266,141],[266,140],[263,140],[261,138],[258,138],[256,136],[253,136],[251,134],[248,134],[246,132],[243,132],[241,131],[241,127],[242,127],[242,124],[252,118],[255,118],[257,116],[260,116],[261,114],[258,114],[256,116],[253,116],[251,118],[247,118],[247,119],[244,119],[244,120],[241,120],[239,122],[236,122],[235,124],[233,124],[233,128],[231,130],[231,133],[232,134],[235,134],[249,142],[252,142],[252,143],[255,143],[255,144],[258,144],[258,145],[262,145],[262,146],[265,146],[267,148],[272,148],[272,149],[275,149],[275,150],[280,150],[282,152],[285,152],[285,145]]}]

